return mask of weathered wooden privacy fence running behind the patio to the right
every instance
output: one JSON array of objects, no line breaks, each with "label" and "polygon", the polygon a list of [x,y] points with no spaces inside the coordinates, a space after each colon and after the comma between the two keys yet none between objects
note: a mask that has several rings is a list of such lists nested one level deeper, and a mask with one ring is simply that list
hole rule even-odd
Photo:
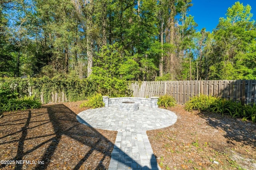
[{"label": "weathered wooden privacy fence running behind the patio to the right", "polygon": [[129,89],[134,97],[173,96],[178,104],[185,104],[198,94],[218,96],[245,104],[256,103],[256,80],[200,80],[132,82]]}]

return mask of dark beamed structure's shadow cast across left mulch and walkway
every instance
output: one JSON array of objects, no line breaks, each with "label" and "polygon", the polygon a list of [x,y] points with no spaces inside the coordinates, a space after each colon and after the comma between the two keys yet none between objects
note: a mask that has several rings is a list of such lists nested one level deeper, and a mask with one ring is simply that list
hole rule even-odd
[{"label": "dark beamed structure's shadow cast across left mulch and walkway", "polygon": [[[84,152],[86,152],[84,156],[77,158],[76,163],[73,164],[73,170],[78,170],[82,167],[86,167],[86,165],[84,165],[86,162],[90,162],[90,168],[92,169],[108,169],[108,163],[106,164],[106,158],[108,158],[109,160],[111,156],[111,152],[114,147],[114,143],[112,141],[104,137],[104,135],[102,135],[97,129],[79,123],[76,120],[76,113],[74,113],[64,104],[44,106],[43,109],[45,109],[45,112],[42,112],[41,109],[38,109],[38,112],[36,113],[32,113],[33,110],[28,110],[26,111],[26,115],[18,116],[16,121],[21,121],[21,123],[16,123],[15,120],[8,121],[8,119],[6,119],[5,122],[0,123],[0,126],[2,127],[6,127],[5,124],[8,124],[8,126],[13,126],[14,129],[17,125],[23,125],[21,129],[16,128],[16,131],[11,131],[8,135],[3,135],[2,137],[0,136],[0,146],[18,142],[18,146],[16,148],[16,156],[12,157],[12,159],[10,160],[26,160],[26,156],[28,156],[28,154],[33,154],[37,152],[38,149],[48,144],[47,147],[44,148],[42,154],[39,155],[39,161],[44,163],[36,164],[36,166],[33,167],[33,169],[49,169],[50,164],[56,160],[56,152],[58,152],[58,149],[62,145],[65,145],[65,143],[63,143],[62,140],[66,136],[70,141],[73,140],[78,142],[79,144],[87,146],[87,149],[84,150]],[[40,119],[42,119],[42,117],[46,117],[46,119],[41,121],[35,121],[35,117],[37,117],[37,119],[38,117],[40,117]],[[43,125],[48,125],[48,128],[51,127],[52,132],[44,133]],[[38,130],[40,130],[40,133],[31,135],[30,133],[33,133],[32,130],[35,128],[38,128]],[[48,129],[45,129],[45,131],[47,130]],[[17,134],[20,134],[19,139],[15,137],[15,135]],[[114,132],[113,134],[116,135],[116,132]],[[38,139],[41,139],[42,137],[47,138],[43,141],[39,140],[40,142],[38,142]],[[32,140],[34,142],[33,147],[28,148],[26,146],[28,140]],[[64,147],[62,149],[69,150],[70,148]],[[70,152],[70,154],[76,154],[72,153],[72,151]],[[123,151],[120,150],[120,152]],[[95,153],[99,153],[98,155],[100,156],[97,156],[97,154]],[[123,154],[125,153],[123,152]],[[125,154],[125,156],[128,155]],[[90,159],[93,160],[91,161]],[[132,158],[130,159],[132,160]],[[132,162],[136,163],[136,161],[134,160],[132,160]],[[126,166],[130,166],[130,163],[125,162],[124,160],[121,160],[120,163]],[[0,168],[7,168],[7,165],[8,164],[2,164],[0,165]],[[15,168],[13,168],[15,170],[22,170],[24,166],[24,164],[15,164]],[[156,169],[154,167],[157,167],[157,165],[152,165],[152,169]],[[140,169],[149,170],[150,168],[140,167]]]}]

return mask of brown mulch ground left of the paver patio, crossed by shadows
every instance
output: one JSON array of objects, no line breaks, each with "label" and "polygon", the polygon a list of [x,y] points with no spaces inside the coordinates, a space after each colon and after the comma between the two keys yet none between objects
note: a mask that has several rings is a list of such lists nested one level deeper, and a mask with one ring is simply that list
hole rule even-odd
[{"label": "brown mulch ground left of the paver patio, crossed by shadows", "polygon": [[[117,132],[79,123],[76,114],[84,110],[79,109],[80,104],[4,113],[0,119],[0,160],[30,162],[0,164],[0,169],[107,169]],[[38,161],[43,164],[33,164]]]}]

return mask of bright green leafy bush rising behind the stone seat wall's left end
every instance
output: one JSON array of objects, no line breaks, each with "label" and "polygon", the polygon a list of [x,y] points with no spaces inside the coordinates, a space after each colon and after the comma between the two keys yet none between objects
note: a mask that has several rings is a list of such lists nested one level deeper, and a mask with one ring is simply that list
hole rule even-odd
[{"label": "bright green leafy bush rising behind the stone seat wall's left end", "polygon": [[103,46],[94,57],[94,66],[89,80],[97,85],[97,92],[113,96],[130,96],[126,80],[138,76],[138,63],[123,51],[118,43]]}]

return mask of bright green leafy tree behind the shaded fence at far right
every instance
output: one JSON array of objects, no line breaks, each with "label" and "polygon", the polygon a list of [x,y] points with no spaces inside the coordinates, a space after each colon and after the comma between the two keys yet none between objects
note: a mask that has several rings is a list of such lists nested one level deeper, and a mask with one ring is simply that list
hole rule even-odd
[{"label": "bright green leafy tree behind the shaded fence at far right", "polygon": [[228,8],[226,18],[220,18],[214,31],[210,78],[256,78],[256,27],[250,10],[249,5],[236,2]]}]

